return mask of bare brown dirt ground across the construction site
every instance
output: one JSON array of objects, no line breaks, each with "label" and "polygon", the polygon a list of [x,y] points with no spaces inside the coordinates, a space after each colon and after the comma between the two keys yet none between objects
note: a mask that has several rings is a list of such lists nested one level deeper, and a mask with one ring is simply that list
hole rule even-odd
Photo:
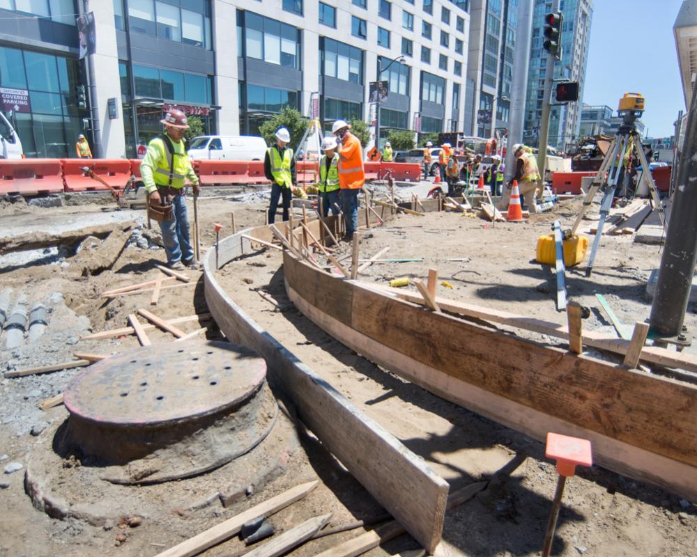
[{"label": "bare brown dirt ground across the construction site", "polygon": [[[201,200],[201,244],[205,247],[215,242],[212,223],[229,225],[231,211],[235,212],[238,227],[261,225],[265,206],[263,202]],[[15,230],[13,227],[20,223],[31,221],[36,226],[43,223],[50,227],[61,221],[84,218],[86,214],[98,220],[114,215],[119,219],[142,220],[141,213],[119,215],[123,212],[112,209],[113,205],[108,202],[50,208],[3,203],[0,236],[7,235],[10,229]],[[362,257],[390,246],[383,257],[424,258],[424,261],[375,263],[362,278],[378,283],[400,276],[426,278],[429,267],[434,267],[438,269],[439,279],[453,287],[439,286],[438,295],[562,322],[565,314],[557,313],[554,303],[556,278],[549,267],[535,262],[535,244],[539,235],[549,232],[554,219],[561,218],[562,223],[568,224],[574,214],[574,207],[560,207],[556,215],[542,214],[533,216],[527,223],[496,223],[495,226],[456,213],[399,216],[384,227],[362,235]],[[590,223],[581,230],[589,227]],[[337,256],[348,254],[348,251],[349,246],[342,244]],[[590,278],[585,277],[583,267],[567,272],[569,296],[591,310],[590,317],[583,322],[584,329],[615,335],[595,294],[604,295],[625,324],[648,317],[650,300],[645,295],[645,283],[651,269],[659,265],[660,256],[660,246],[634,244],[631,236],[607,237],[602,241]],[[447,258],[464,261],[448,262]],[[527,455],[523,464],[496,489],[448,512],[443,554],[538,555],[557,478],[553,464],[544,458],[544,446],[385,372],[315,327],[287,299],[280,260],[279,252],[262,251],[221,269],[220,280],[256,322],[368,416],[424,457],[453,487],[488,478],[516,455]],[[164,262],[164,251],[130,245],[112,269],[89,278],[71,269],[75,267],[70,265],[71,261],[68,257],[41,265],[7,265],[0,259],[1,288],[25,292],[31,301],[49,299],[55,292],[61,292],[64,301],[61,304],[54,296],[51,302],[55,318],[55,323],[52,320],[47,329],[51,342],[40,345],[40,350],[21,354],[0,352],[0,371],[66,361],[75,351],[112,354],[138,346],[135,336],[72,341],[90,329],[125,327],[129,313],[147,307],[149,292],[111,300],[99,295],[105,290],[151,280],[158,274],[153,264]],[[64,262],[68,265],[63,265]],[[165,318],[206,311],[200,274],[192,273],[192,276],[199,280],[191,286],[163,290],[160,303],[153,311]],[[275,305],[257,290],[268,293]],[[691,330],[697,324],[694,309],[692,305],[689,307],[685,320]],[[181,328],[189,332],[207,324],[210,328],[206,337],[220,339],[215,326],[206,322],[188,322]],[[148,331],[148,334],[153,343],[171,340],[171,336],[162,331]],[[551,342],[549,338],[531,336]],[[688,350],[694,352],[694,347]],[[56,423],[66,417],[64,407],[42,412],[38,405],[61,392],[70,377],[77,373],[79,370],[66,370],[0,379],[3,397],[0,458],[8,455],[0,462],[1,466],[9,462],[26,464],[31,448],[41,439],[41,435],[33,436],[31,429],[40,423]],[[289,408],[292,416],[291,405]],[[24,493],[23,469],[3,474],[0,481],[8,487],[0,489],[0,504],[5,508],[0,520],[0,556],[153,556],[252,504],[314,478],[321,480],[315,492],[271,519],[277,529],[325,512],[334,512],[330,526],[345,524],[354,517],[369,519],[383,512],[312,436],[301,432],[299,439],[300,448],[291,456],[286,472],[259,485],[259,489],[231,507],[226,509],[213,503],[179,513],[171,510],[176,507],[174,504],[162,505],[162,513],[144,517],[137,528],[51,519],[34,510]],[[205,499],[209,494],[206,489],[200,487],[199,492],[191,494],[191,500]],[[696,528],[696,508],[689,501],[594,466],[580,471],[579,476],[567,482],[553,554],[697,556]],[[358,532],[360,530],[321,538],[294,554],[299,557],[316,554]],[[124,537],[123,542],[119,541],[120,536]],[[231,540],[209,550],[206,555],[236,554],[243,547],[242,542]],[[418,544],[409,536],[401,536],[369,554],[398,554],[412,549],[418,549]]]}]

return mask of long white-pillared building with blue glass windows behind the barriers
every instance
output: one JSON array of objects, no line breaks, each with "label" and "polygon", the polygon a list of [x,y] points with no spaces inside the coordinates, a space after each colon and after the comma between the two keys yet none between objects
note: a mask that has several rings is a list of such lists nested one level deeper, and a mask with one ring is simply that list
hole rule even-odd
[{"label": "long white-pillared building with blue glass windows behind the barriers", "polygon": [[[81,8],[0,0],[0,87],[26,93],[13,116],[29,156],[75,156],[77,135],[91,140],[82,128],[91,114],[76,100],[88,80],[78,59]],[[207,133],[229,135],[256,134],[283,107],[319,109],[325,126],[369,121],[369,83],[378,79],[389,90],[383,141],[389,130],[461,130],[472,118],[469,0],[93,0],[91,10],[107,157],[135,157],[175,105]]]}]

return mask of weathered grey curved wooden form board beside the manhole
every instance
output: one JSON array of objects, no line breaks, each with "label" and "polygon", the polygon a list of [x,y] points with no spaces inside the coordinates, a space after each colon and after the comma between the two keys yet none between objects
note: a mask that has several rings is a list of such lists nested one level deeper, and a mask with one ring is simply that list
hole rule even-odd
[{"label": "weathered grey curved wooden form board beside the manhole", "polygon": [[[314,232],[317,221],[307,226]],[[221,264],[241,255],[239,234],[221,240]],[[344,292],[342,305],[350,308],[349,283],[336,280],[335,290],[316,290],[313,300],[328,309]],[[212,249],[204,257],[204,281],[206,303],[221,331],[266,359],[270,382],[289,395],[302,421],[418,542],[434,551],[443,532],[448,492],[445,480],[235,304],[215,280]]]}]

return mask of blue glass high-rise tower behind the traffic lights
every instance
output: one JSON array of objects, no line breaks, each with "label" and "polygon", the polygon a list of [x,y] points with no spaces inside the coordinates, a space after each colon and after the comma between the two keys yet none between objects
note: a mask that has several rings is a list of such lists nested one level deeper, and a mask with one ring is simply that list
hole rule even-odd
[{"label": "blue glass high-rise tower behind the traffic lights", "polygon": [[[533,11],[533,36],[530,45],[530,69],[528,70],[523,132],[523,141],[533,146],[537,146],[539,136],[546,77],[547,53],[542,48],[544,15],[552,11],[552,6],[551,0],[535,0]],[[548,143],[560,150],[568,150],[579,139],[593,8],[591,0],[560,0],[559,7],[564,14],[561,33],[562,59],[554,64],[553,78],[579,81],[581,93],[578,102],[569,102],[564,106],[551,108]]]}]

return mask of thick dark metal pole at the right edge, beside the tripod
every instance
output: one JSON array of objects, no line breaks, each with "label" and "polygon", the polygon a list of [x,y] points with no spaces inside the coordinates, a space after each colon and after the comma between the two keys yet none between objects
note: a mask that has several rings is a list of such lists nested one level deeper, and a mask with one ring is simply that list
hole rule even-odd
[{"label": "thick dark metal pole at the right edge, beside the tripod", "polygon": [[[641,149],[641,145],[637,148]],[[697,185],[693,181],[696,175],[697,87],[692,90],[671,219],[649,318],[652,332],[661,336],[682,334],[697,260]]]}]

